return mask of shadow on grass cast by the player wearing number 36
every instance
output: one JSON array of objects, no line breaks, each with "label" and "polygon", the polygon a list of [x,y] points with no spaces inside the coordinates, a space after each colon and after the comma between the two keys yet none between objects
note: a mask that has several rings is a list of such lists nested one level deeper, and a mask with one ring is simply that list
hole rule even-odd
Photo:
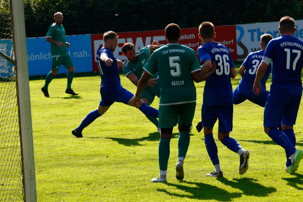
[{"label": "shadow on grass cast by the player wearing number 36", "polygon": [[275,187],[264,187],[257,183],[258,180],[252,178],[234,178],[233,181],[227,180],[226,178],[217,178],[217,180],[225,185],[243,191],[243,194],[247,196],[265,197],[277,191]]}]

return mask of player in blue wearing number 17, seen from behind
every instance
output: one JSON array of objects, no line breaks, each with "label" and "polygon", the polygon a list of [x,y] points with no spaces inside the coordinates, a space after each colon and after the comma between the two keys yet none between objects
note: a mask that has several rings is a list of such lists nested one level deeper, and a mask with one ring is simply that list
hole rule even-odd
[{"label": "player in blue wearing number 17, seen from behind", "polygon": [[[264,58],[257,69],[253,91],[262,89],[261,79],[268,65],[271,67],[271,87],[264,109],[264,131],[285,149],[286,172],[294,173],[303,157],[295,148],[294,124],[302,97],[301,72],[303,67],[303,41],[293,36],[296,31],[294,18],[280,19],[281,37],[272,39],[265,50]],[[281,121],[282,120],[282,121]],[[282,131],[277,127],[282,123]]]}]

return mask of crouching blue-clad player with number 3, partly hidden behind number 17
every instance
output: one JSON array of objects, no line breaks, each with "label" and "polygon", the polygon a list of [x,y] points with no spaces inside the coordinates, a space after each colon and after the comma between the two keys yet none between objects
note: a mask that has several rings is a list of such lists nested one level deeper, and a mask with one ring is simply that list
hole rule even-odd
[{"label": "crouching blue-clad player with number 3, partly hidden behind number 17", "polygon": [[255,95],[251,90],[254,85],[256,72],[261,60],[263,58],[265,48],[268,42],[272,39],[269,34],[264,34],[261,36],[261,50],[252,52],[248,54],[245,61],[239,68],[239,74],[241,75],[241,80],[237,88],[233,92],[234,104],[240,104],[245,100],[249,100],[261,107],[265,107],[269,91],[266,90],[265,83],[271,73],[271,64],[268,66],[264,77],[261,79],[262,89],[259,91],[259,95]]}]

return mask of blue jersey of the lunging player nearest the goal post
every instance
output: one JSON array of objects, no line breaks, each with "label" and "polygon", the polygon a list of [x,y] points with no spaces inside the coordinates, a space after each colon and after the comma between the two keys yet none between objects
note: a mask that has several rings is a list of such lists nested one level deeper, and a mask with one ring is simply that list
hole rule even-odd
[{"label": "blue jersey of the lunging player nearest the goal post", "polygon": [[[105,62],[100,59],[101,54],[106,54],[108,58],[113,60],[111,66],[106,66]],[[101,87],[100,92],[107,91],[111,88],[115,88],[121,85],[120,76],[119,76],[119,67],[115,56],[112,54],[112,51],[108,48],[99,47],[97,50],[96,60],[98,63],[98,68],[101,76]]]}]

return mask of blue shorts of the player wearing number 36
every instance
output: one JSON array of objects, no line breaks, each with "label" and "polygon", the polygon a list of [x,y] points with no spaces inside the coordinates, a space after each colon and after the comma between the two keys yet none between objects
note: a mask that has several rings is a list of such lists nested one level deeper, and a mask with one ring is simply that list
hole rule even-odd
[{"label": "blue shorts of the player wearing number 36", "polygon": [[229,133],[232,131],[233,106],[231,105],[203,105],[201,109],[201,120],[203,127],[210,130],[219,120],[218,131]]}]

